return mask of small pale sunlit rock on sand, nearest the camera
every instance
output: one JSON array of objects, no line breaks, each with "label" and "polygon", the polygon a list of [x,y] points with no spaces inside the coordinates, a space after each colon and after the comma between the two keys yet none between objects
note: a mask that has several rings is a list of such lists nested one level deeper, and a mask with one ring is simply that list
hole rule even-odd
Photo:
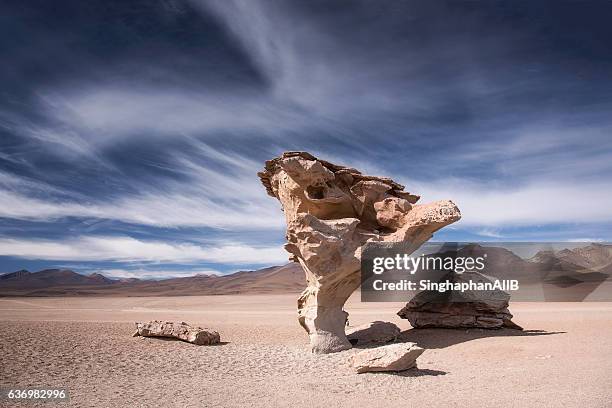
[{"label": "small pale sunlit rock on sand, nearest the camera", "polygon": [[351,356],[350,363],[358,373],[403,371],[416,367],[416,359],[424,351],[416,343],[393,343],[360,351]]}]

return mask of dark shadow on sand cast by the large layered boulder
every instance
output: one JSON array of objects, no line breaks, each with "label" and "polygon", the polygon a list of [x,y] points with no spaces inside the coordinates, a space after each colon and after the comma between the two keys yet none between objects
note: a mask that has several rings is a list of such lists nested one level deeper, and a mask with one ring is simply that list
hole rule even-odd
[{"label": "dark shadow on sand cast by the large layered boulder", "polygon": [[514,329],[409,329],[398,336],[397,340],[417,343],[426,349],[441,349],[466,341],[487,337],[531,337],[564,334],[566,332],[549,332],[546,330]]}]

